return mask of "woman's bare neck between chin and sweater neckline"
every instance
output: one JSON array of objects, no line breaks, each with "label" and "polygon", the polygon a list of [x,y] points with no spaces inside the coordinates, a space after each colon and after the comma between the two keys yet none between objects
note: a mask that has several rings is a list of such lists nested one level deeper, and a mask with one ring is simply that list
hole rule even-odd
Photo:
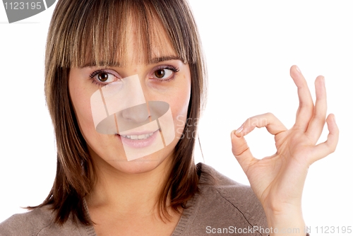
[{"label": "woman's bare neck between chin and sweater neckline", "polygon": [[89,208],[109,209],[119,216],[155,216],[160,211],[158,201],[169,177],[171,160],[169,156],[154,168],[131,173],[121,171],[99,157],[93,158],[97,182],[86,199]]}]

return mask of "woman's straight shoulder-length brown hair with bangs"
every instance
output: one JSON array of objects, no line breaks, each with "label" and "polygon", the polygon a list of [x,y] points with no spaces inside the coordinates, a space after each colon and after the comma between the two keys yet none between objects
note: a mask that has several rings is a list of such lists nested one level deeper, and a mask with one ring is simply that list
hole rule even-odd
[{"label": "woman's straight shoulder-length brown hair with bangs", "polygon": [[[188,120],[200,116],[205,96],[205,65],[196,23],[184,0],[59,0],[47,37],[45,54],[45,95],[52,117],[57,146],[54,185],[40,206],[50,205],[55,222],[73,220],[92,224],[85,211],[84,197],[95,184],[95,168],[80,132],[68,92],[68,73],[85,63],[111,66],[124,63],[128,20],[134,18],[138,39],[145,49],[141,59],[151,59],[152,45],[160,45],[151,33],[156,20],[162,25],[177,56],[189,64],[191,98]],[[118,61],[120,59],[120,61]],[[184,134],[196,134],[186,125]],[[195,138],[181,138],[174,149],[172,170],[160,194],[160,214],[166,216],[167,199],[175,211],[198,191],[198,167],[194,165]],[[29,207],[32,208],[32,207]]]}]

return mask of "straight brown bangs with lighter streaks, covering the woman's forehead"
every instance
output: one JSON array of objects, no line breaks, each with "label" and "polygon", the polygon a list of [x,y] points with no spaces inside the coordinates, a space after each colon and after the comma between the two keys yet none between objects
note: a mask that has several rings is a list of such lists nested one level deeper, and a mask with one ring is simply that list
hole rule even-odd
[{"label": "straight brown bangs with lighter streaks, covering the woman's forehead", "polygon": [[[56,45],[61,52],[57,66],[124,66],[131,59],[150,64],[163,57],[194,63],[192,48],[197,48],[198,42],[187,30],[190,27],[185,27],[189,10],[176,4],[180,2],[90,0],[68,4],[67,17],[56,26],[58,36],[64,37]],[[133,35],[133,41],[128,35]],[[133,44],[135,52],[127,52],[128,44]]]}]

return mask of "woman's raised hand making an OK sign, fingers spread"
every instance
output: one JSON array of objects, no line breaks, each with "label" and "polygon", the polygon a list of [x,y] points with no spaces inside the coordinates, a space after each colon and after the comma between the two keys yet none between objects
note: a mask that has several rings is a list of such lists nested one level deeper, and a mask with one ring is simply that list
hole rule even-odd
[{"label": "woman's raised hand making an OK sign, fingers spread", "polygon": [[[268,218],[294,216],[293,211],[297,216],[301,215],[301,195],[308,168],[316,160],[333,153],[338,141],[335,116],[329,114],[326,118],[323,76],[318,76],[315,81],[314,106],[308,85],[297,66],[291,67],[290,75],[297,85],[299,96],[297,117],[291,129],[287,129],[273,114],[267,113],[247,119],[237,131],[232,132],[233,154]],[[325,122],[329,131],[327,141],[316,145]],[[253,157],[244,136],[255,127],[266,127],[275,136],[277,152],[274,155],[261,160]]]}]

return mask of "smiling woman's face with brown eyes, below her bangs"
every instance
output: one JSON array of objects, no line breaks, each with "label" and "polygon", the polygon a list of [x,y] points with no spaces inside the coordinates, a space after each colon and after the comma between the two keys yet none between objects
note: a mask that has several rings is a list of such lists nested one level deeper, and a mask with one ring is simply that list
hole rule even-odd
[{"label": "smiling woman's face with brown eyes, below her bangs", "polygon": [[[133,33],[128,33],[128,38],[130,39],[128,42],[131,43],[127,45],[128,57],[127,61],[124,61],[126,66],[102,67],[88,65],[83,68],[71,68],[68,82],[71,101],[80,131],[88,144],[88,149],[95,165],[109,169],[114,167],[115,170],[129,173],[147,172],[160,166],[161,163],[163,165],[169,163],[174,147],[177,145],[184,130],[191,91],[189,65],[178,59],[177,54],[168,43],[169,40],[164,40],[166,43],[162,49],[153,49],[152,61],[154,62],[143,64],[136,62],[140,49],[136,48],[136,44],[133,43],[135,42],[135,37],[136,35]],[[161,59],[162,61],[160,61]],[[128,83],[128,81],[133,81],[133,83]],[[99,109],[95,109],[94,102],[92,103],[94,97],[92,95],[94,93],[98,95],[98,97],[96,96],[97,98],[102,95],[104,100],[104,90],[127,88],[128,85],[132,86],[128,93],[125,90],[125,93],[118,91],[112,95],[113,97],[115,96],[114,98],[119,98],[118,100],[115,99],[117,107],[128,105],[129,102],[131,105],[128,107],[133,107],[134,104],[136,105],[137,98],[144,98],[147,104],[148,101],[167,102],[172,112],[172,116],[169,119],[172,120],[172,126],[169,125],[169,128],[172,127],[175,134],[175,137],[173,134],[172,139],[170,139],[171,142],[168,142],[169,145],[164,143],[163,148],[160,148],[159,151],[150,152],[149,155],[132,159],[126,154],[127,149],[130,153],[140,153],[141,150],[146,148],[152,150],[153,146],[158,146],[156,144],[158,142],[156,136],[162,135],[163,138],[163,132],[160,132],[158,128],[160,124],[158,126],[150,125],[152,124],[151,113],[153,107],[148,106],[147,115],[141,110],[133,109],[126,109],[123,112],[116,113],[114,118],[119,130],[116,131],[116,134],[102,134],[102,132],[97,131],[97,122],[94,120],[95,112]],[[108,98],[105,97],[105,99]],[[114,105],[114,102],[112,104]],[[119,110],[118,108],[116,109]],[[105,113],[98,114],[98,116],[100,115],[104,117]],[[135,128],[123,131],[121,127],[125,126],[125,123],[132,124]],[[167,136],[167,133],[164,134],[164,138],[165,136]]]}]

